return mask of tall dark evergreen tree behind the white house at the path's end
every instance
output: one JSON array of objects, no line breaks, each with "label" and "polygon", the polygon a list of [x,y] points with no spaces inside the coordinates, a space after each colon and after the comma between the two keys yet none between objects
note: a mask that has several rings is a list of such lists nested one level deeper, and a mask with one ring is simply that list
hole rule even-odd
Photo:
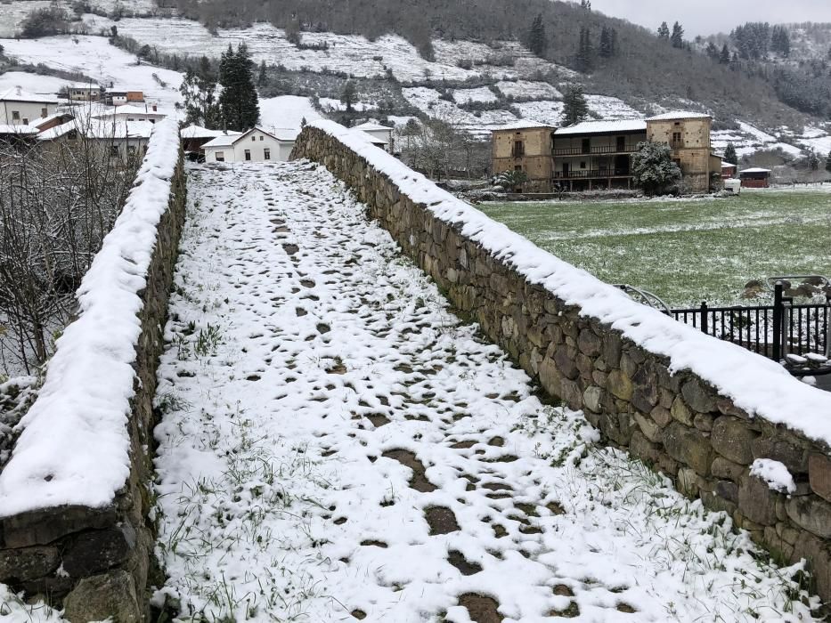
[{"label": "tall dark evergreen tree behind the white house at the path's end", "polygon": [[254,85],[254,63],[248,56],[248,46],[240,44],[234,52],[232,46],[219,61],[219,84],[222,93],[219,105],[225,126],[243,132],[255,125],[260,117],[257,87]]}]

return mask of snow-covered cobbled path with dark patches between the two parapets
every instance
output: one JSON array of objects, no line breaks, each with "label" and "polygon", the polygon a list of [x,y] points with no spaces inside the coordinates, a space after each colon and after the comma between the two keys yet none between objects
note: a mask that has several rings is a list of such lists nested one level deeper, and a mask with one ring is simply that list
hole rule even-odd
[{"label": "snow-covered cobbled path with dark patches between the two parapets", "polygon": [[325,169],[189,194],[156,432],[180,619],[811,619],[795,568],[543,405]]}]

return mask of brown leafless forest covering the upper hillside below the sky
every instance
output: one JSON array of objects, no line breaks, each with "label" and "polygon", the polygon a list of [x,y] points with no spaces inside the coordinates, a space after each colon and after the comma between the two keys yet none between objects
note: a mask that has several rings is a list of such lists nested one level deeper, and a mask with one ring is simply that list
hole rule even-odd
[{"label": "brown leafless forest covering the upper hillside below the sky", "polygon": [[[717,117],[754,117],[767,125],[799,126],[804,118],[780,101],[772,81],[754,71],[713,61],[692,45],[675,45],[652,31],[592,11],[590,2],[517,0],[159,0],[209,29],[267,21],[300,41],[304,31],[397,34],[426,58],[431,41],[464,39],[495,44],[518,39],[543,58],[586,74],[595,93],[650,103],[700,102]],[[656,20],[674,21],[672,9]],[[541,28],[542,27],[542,28]],[[682,35],[682,25],[680,35]],[[542,44],[539,37],[542,30]],[[609,39],[614,33],[614,50]],[[811,108],[802,107],[807,112]]]}]

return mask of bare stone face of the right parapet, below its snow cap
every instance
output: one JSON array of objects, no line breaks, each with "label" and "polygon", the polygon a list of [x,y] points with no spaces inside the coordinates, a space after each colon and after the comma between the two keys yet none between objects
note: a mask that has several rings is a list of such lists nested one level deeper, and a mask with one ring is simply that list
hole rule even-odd
[{"label": "bare stone face of the right parapet, below its snow cap", "polygon": [[[532,283],[463,235],[461,224],[444,222],[404,194],[370,164],[369,152],[361,148],[359,155],[353,148],[330,131],[307,126],[292,158],[321,163],[354,190],[369,216],[436,280],[458,312],[476,320],[547,392],[583,409],[607,443],[671,477],[688,497],[729,514],[778,562],[806,558],[816,591],[831,599],[831,460],[825,444],[738,408],[688,370],[671,374],[666,356]],[[372,158],[387,163],[386,156]],[[794,494],[770,490],[751,476],[756,458],[786,465]]]}]

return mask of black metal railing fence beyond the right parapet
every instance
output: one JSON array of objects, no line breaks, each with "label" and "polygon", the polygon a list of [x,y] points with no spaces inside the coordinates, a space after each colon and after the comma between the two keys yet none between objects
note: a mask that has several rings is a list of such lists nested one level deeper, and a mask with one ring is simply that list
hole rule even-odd
[{"label": "black metal railing fence beyond the right parapet", "polygon": [[669,311],[672,318],[703,333],[744,346],[772,360],[788,354],[828,355],[831,303],[794,304],[774,287],[772,305],[700,307]]}]

